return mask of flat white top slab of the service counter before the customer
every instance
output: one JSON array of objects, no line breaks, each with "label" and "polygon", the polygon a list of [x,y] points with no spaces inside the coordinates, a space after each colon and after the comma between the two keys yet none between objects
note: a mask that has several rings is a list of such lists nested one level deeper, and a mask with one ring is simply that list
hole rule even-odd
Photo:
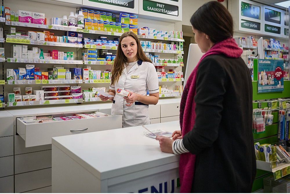
[{"label": "flat white top slab of the service counter before the customer", "polygon": [[[146,127],[169,132],[180,130],[179,121]],[[145,137],[144,131],[142,126],[137,126],[67,135],[53,137],[52,144],[99,180],[179,161],[179,155],[161,152],[158,141]]]}]

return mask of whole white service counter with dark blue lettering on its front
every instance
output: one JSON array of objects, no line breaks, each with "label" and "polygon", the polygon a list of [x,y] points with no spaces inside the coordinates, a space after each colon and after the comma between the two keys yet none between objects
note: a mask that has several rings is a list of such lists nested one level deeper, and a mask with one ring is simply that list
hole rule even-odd
[{"label": "whole white service counter with dark blue lettering on its front", "polygon": [[[147,127],[180,130],[178,121]],[[179,156],[161,152],[157,140],[142,135],[144,130],[137,126],[53,137],[52,192],[179,192]]]}]

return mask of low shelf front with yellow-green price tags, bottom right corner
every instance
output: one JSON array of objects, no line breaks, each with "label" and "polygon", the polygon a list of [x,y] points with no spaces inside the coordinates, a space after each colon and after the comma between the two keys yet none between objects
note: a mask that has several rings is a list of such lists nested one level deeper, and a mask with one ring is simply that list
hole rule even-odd
[{"label": "low shelf front with yellow-green price tags, bottom right corner", "polygon": [[271,162],[256,160],[256,167],[260,170],[272,172],[275,180],[290,174],[290,164],[287,163],[279,163],[278,166],[272,168]]}]

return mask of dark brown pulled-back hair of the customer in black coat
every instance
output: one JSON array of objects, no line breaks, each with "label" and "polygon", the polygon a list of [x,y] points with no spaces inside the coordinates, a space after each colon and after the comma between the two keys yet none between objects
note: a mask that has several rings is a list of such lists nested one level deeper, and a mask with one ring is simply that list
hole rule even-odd
[{"label": "dark brown pulled-back hair of the customer in black coat", "polygon": [[213,43],[233,36],[233,18],[217,1],[210,1],[198,8],[191,16],[190,23],[194,29],[208,35]]}]

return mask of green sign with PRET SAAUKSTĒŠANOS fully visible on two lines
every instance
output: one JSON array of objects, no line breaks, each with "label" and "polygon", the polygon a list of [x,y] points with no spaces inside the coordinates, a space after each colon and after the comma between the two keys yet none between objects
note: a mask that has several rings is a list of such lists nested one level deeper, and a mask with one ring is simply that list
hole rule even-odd
[{"label": "green sign with PRET SAAUKST\u0112\u0160ANOS fully visible on two lines", "polygon": [[178,6],[173,6],[166,3],[159,3],[155,1],[143,0],[143,10],[178,16]]}]

